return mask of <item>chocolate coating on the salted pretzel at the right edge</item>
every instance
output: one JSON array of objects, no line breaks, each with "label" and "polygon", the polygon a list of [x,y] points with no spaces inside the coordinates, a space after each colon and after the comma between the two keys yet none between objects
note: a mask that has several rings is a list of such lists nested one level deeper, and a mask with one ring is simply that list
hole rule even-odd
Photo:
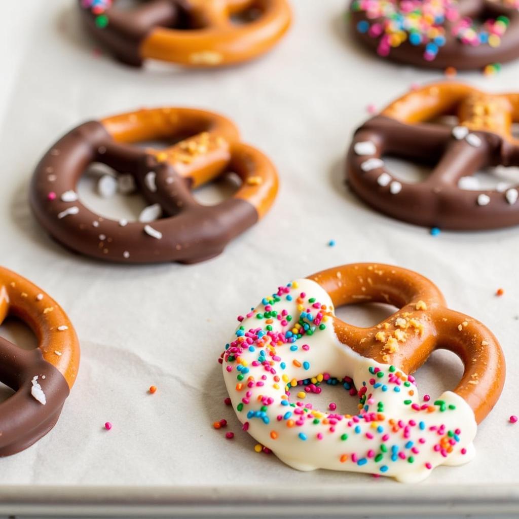
[{"label": "chocolate coating on the salted pretzel at the right edge", "polygon": [[[456,230],[477,230],[519,224],[519,203],[509,203],[505,193],[494,190],[463,190],[457,185],[462,176],[469,176],[489,166],[519,165],[515,146],[499,135],[471,132],[481,139],[481,146],[456,140],[450,128],[421,123],[404,124],[391,117],[378,115],[356,132],[346,160],[350,187],[367,204],[399,220],[427,227]],[[370,141],[374,155],[358,155],[355,144]],[[393,155],[425,162],[434,166],[425,182],[401,184],[401,191],[391,193],[390,184],[381,186],[377,179],[383,168],[364,172],[361,164],[369,158]],[[390,172],[388,172],[390,173]],[[479,195],[487,195],[489,203],[478,204]]]}]

